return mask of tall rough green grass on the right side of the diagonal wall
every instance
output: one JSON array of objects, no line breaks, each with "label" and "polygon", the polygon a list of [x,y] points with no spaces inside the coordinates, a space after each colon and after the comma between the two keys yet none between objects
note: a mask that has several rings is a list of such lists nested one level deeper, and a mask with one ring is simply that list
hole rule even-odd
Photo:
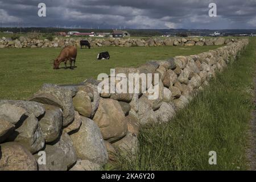
[{"label": "tall rough green grass on the right side of the diagonal wall", "polygon": [[[118,156],[106,169],[245,170],[254,105],[256,39],[238,60],[210,81],[171,122],[143,127],[136,160]],[[209,151],[217,165],[209,165]]]}]

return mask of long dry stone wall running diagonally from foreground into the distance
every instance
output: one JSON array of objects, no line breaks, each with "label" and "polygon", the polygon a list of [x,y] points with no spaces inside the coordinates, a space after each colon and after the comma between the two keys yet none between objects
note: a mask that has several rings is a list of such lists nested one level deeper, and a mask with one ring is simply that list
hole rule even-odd
[{"label": "long dry stone wall running diagonally from foreground into the distance", "polygon": [[170,122],[248,43],[242,39],[198,55],[115,69],[159,73],[157,100],[148,94],[100,94],[99,82],[88,79],[44,84],[27,101],[0,101],[0,171],[100,170],[118,150],[135,154],[140,126]]}]

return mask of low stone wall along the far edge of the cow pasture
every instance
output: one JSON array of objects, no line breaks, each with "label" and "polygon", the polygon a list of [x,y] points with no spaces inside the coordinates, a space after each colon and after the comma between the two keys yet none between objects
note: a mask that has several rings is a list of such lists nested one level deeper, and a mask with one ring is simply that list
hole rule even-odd
[{"label": "low stone wall along the far edge of the cow pasture", "polygon": [[[51,48],[51,47],[66,47],[77,46],[80,47],[81,39],[73,38],[55,38],[50,41],[47,39],[30,39],[20,36],[19,39],[11,40],[10,38],[0,38],[0,48]],[[147,47],[147,46],[213,46],[213,45],[230,45],[237,42],[234,39],[224,38],[149,38],[149,39],[92,39],[88,38],[92,47],[102,46],[119,46],[119,47]]]}]

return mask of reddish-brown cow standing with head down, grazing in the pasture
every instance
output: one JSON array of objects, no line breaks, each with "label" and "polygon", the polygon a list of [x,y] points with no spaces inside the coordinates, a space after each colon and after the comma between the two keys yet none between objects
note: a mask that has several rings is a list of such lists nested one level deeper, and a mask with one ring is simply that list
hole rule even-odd
[{"label": "reddish-brown cow standing with head down, grazing in the pasture", "polygon": [[63,48],[62,51],[60,52],[60,55],[53,62],[53,69],[59,69],[59,65],[61,62],[65,63],[65,69],[67,69],[67,61],[69,61],[71,69],[73,69],[72,62],[74,62],[74,68],[75,68],[76,55],[77,55],[77,49],[75,46],[67,46]]}]

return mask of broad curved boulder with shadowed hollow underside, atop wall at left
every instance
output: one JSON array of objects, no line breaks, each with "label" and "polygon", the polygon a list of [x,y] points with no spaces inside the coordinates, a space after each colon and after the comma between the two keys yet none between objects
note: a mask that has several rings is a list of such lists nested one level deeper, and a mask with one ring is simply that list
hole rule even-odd
[{"label": "broad curved boulder with shadowed hollow underside, atop wall at left", "polygon": [[60,107],[63,110],[63,126],[67,126],[75,117],[73,96],[75,96],[75,92],[71,89],[52,84],[44,84],[42,89],[30,98],[30,101]]}]

